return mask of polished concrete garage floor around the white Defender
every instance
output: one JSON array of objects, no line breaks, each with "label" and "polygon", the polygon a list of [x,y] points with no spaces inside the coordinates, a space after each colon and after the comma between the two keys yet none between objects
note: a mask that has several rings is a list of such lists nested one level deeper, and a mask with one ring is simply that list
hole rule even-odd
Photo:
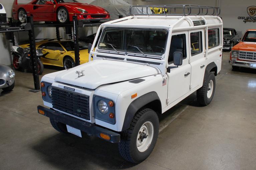
[{"label": "polished concrete garage floor around the white Defender", "polygon": [[0,169],[256,169],[256,70],[232,71],[228,57],[212,103],[201,107],[192,94],[163,114],[156,147],[138,165],[124,161],[117,144],[55,131],[37,113],[42,98],[28,91],[31,73],[16,72],[14,90],[0,90]]}]

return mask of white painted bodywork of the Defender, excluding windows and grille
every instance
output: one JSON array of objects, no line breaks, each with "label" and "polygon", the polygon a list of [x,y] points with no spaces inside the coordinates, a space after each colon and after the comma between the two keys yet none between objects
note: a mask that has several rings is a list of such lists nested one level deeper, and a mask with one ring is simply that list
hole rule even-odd
[{"label": "white painted bodywork of the Defender, excluding windows and grille", "polygon": [[[193,21],[197,20],[204,21],[205,25],[194,26]],[[132,53],[128,56],[122,52],[120,55],[114,50],[100,50],[97,47],[96,39],[100,36],[100,30],[105,27],[166,29],[168,37],[165,53],[162,56],[148,55],[150,58],[147,58],[138,53],[136,56],[133,56]],[[89,54],[93,55],[93,61],[66,71],[45,75],[42,81],[53,83],[53,86],[60,88],[63,88],[64,83],[69,84],[69,87],[74,88],[75,92],[89,95],[91,114],[89,122],[95,122],[97,125],[114,131],[121,131],[127,108],[137,98],[155,91],[161,101],[162,113],[164,113],[203,85],[205,70],[210,63],[214,62],[217,65],[217,73],[220,72],[222,41],[217,47],[208,49],[208,28],[219,28],[219,39],[222,40],[222,20],[218,16],[130,16],[109,21],[98,29]],[[202,53],[192,56],[190,33],[198,31],[202,32]],[[168,64],[171,39],[177,34],[186,35],[186,58],[183,59],[181,66],[172,68],[168,73],[167,68],[174,67],[173,63]],[[106,58],[102,56],[106,56]],[[129,62],[127,59],[137,61]],[[146,64],[141,63],[140,60]],[[151,64],[147,64],[147,62],[151,62]],[[202,67],[203,65],[204,67]],[[85,76],[78,78],[75,72],[83,70]],[[188,75],[185,76],[186,74]],[[144,79],[144,81],[138,84],[129,82],[138,78]],[[138,96],[131,98],[131,95],[135,93]],[[114,101],[115,124],[94,119],[93,95]],[[52,107],[49,102],[44,101],[44,104]]]}]

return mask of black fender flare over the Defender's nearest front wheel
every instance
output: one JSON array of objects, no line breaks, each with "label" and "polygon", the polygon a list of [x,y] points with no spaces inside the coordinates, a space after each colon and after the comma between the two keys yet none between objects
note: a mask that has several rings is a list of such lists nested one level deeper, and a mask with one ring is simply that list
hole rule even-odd
[{"label": "black fender flare over the Defender's nearest front wheel", "polygon": [[[148,103],[159,100],[161,103],[161,100],[155,91],[151,91],[149,93],[146,93],[134,101],[130,103],[128,106],[125,117],[123,120],[123,126],[122,126],[122,131],[127,130],[130,127],[130,124],[134,118],[134,115],[137,113],[137,111],[142,108],[143,106],[147,105]],[[161,105],[161,110],[162,110],[162,105]]]}]

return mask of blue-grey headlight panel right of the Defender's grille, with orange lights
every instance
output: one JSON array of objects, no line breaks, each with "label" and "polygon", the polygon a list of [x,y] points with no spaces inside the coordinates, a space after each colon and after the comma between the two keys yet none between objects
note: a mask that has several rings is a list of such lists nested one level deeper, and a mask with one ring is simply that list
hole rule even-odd
[{"label": "blue-grey headlight panel right of the Defender's grille, with orange lights", "polygon": [[93,112],[95,119],[115,124],[114,101],[98,95],[93,95]]}]

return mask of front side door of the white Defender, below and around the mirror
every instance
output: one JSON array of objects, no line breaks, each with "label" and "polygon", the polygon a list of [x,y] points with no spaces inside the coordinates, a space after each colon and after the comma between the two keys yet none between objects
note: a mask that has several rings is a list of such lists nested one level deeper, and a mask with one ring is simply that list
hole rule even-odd
[{"label": "front side door of the white Defender, below and around the mirror", "polygon": [[[191,65],[189,64],[189,41],[188,31],[172,34],[171,46],[169,51],[168,64],[173,64],[173,53],[181,52],[183,54],[182,66],[171,69],[168,76],[168,104],[184,96],[189,92]],[[164,85],[164,82],[163,82]]]}]

